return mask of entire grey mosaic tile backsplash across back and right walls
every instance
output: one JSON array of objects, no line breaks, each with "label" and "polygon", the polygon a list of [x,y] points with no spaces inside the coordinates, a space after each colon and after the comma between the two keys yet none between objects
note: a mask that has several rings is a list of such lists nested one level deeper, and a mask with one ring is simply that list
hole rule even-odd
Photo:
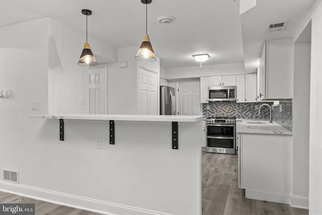
[{"label": "entire grey mosaic tile backsplash across back and right walls", "polygon": [[[207,117],[228,116],[236,118],[268,120],[270,116],[268,107],[263,106],[261,108],[261,114],[258,114],[258,110],[255,108],[256,105],[261,104],[262,103],[209,102],[209,110],[207,110],[207,104],[202,104],[202,110],[203,115]],[[289,99],[280,101],[280,106],[282,106],[282,112],[280,112],[279,106],[274,107],[274,110],[272,110],[273,121],[292,131],[293,100]]]}]

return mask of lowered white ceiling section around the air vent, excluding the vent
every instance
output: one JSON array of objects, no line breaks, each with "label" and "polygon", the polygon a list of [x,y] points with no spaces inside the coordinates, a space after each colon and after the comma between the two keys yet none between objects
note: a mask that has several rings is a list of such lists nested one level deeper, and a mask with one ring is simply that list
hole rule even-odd
[{"label": "lowered white ceiling section around the air vent, excluding the vent", "polygon": [[[314,0],[257,0],[254,8],[240,16],[247,71],[259,66],[264,41],[294,36],[313,2]],[[289,21],[285,31],[266,32],[267,24],[283,21]]]}]

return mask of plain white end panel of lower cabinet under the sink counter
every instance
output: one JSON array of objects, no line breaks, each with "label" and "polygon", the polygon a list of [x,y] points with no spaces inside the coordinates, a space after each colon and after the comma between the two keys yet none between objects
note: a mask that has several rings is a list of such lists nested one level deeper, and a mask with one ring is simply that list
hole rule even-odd
[{"label": "plain white end panel of lower cabinet under the sink counter", "polygon": [[291,135],[238,135],[238,179],[247,198],[289,203],[292,182]]}]

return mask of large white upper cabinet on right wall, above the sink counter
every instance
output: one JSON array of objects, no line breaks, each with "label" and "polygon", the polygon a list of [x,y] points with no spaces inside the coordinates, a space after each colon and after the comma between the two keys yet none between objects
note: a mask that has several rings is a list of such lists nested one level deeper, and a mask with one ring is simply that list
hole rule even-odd
[{"label": "large white upper cabinet on right wall, above the sink counter", "polygon": [[266,41],[258,73],[259,100],[293,98],[293,68],[293,39]]}]

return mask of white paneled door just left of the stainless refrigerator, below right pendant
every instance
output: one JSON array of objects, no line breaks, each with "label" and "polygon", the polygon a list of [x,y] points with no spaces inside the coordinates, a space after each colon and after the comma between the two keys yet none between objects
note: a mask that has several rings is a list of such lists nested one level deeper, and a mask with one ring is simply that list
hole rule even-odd
[{"label": "white paneled door just left of the stainless refrigerator, below right pendant", "polygon": [[139,70],[138,109],[140,114],[157,114],[157,73],[143,68]]}]

